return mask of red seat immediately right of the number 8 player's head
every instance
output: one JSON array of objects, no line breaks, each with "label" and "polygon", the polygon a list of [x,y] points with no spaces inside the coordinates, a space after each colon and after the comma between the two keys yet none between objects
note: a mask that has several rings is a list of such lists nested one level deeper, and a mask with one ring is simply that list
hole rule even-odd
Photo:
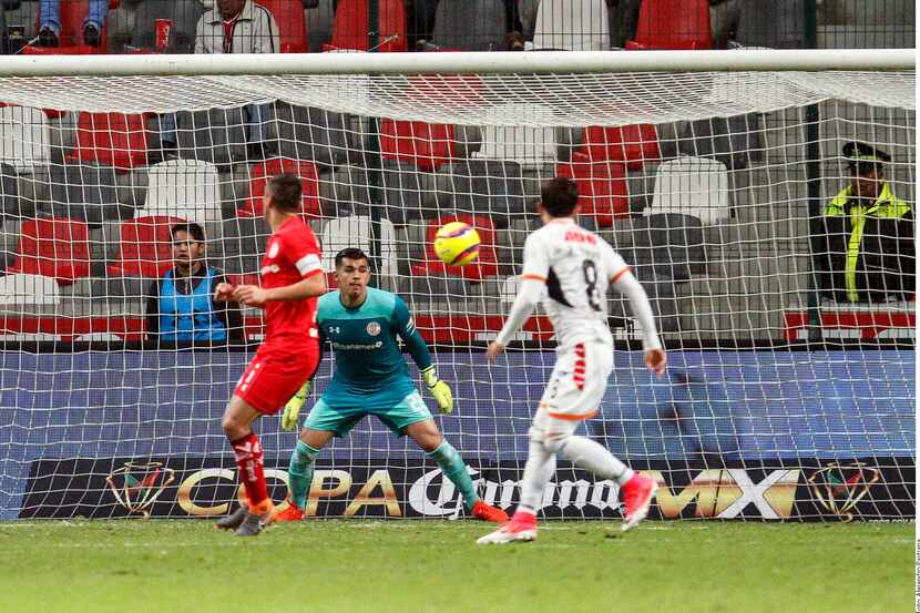
[{"label": "red seat immediately right of the number 8 player's head", "polygon": [[613,162],[592,162],[584,153],[573,153],[572,161],[555,168],[579,187],[582,217],[594,217],[597,227],[611,227],[614,219],[630,216],[626,170]]}]

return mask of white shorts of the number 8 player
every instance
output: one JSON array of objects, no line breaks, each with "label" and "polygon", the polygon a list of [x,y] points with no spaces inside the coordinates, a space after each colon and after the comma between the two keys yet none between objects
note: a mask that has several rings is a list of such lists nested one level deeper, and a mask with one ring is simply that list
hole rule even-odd
[{"label": "white shorts of the number 8 player", "polygon": [[556,356],[555,367],[540,410],[549,417],[581,421],[594,416],[613,370],[613,347],[605,343],[577,343]]}]

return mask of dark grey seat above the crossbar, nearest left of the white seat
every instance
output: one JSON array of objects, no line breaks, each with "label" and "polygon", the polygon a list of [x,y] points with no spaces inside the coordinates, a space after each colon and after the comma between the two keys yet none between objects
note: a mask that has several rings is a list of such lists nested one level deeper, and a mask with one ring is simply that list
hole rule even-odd
[{"label": "dark grey seat above the crossbar, nearest left of the white seat", "polygon": [[440,0],[431,43],[457,51],[505,51],[508,31],[503,0]]}]

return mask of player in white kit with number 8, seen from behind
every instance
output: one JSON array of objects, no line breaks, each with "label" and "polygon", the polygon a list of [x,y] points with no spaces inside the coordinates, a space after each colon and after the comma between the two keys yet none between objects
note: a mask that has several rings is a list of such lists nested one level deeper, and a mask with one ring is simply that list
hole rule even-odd
[{"label": "player in white kit with number 8, seen from behind", "polygon": [[645,364],[658,376],[667,357],[655,330],[648,297],[623,258],[603,238],[581,228],[577,188],[569,178],[546,183],[536,211],[543,227],[524,244],[521,289],[504,327],[487,356],[494,360],[530,317],[545,287],[546,313],[556,337],[556,362],[530,429],[530,451],[521,483],[521,501],[511,521],[479,543],[510,543],[536,538],[536,511],[543,489],[555,472],[558,454],[621,487],[628,530],[648,514],[655,481],[616,459],[602,445],[575,430],[601,406],[613,369],[613,339],[607,327],[607,287],[630,299],[643,330]]}]

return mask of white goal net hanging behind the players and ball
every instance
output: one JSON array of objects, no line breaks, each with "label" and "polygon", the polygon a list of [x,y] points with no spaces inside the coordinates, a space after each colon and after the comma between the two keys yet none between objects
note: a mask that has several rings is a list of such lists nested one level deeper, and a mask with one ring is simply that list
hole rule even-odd
[{"label": "white goal net hanging behind the players and ball", "polygon": [[[564,175],[668,350],[656,379],[609,297],[615,368],[582,433],[658,479],[653,517],[912,518],[914,86],[913,71],[2,78],[0,517],[226,512],[219,418],[260,313],[216,315],[225,343],[206,290],[171,318],[157,279],[186,221],[217,269],[193,288],[257,282],[265,182],[292,172],[325,269],[364,248],[436,347],[456,397],[437,421],[488,502],[518,500],[553,334],[538,309],[495,365],[482,349],[541,184]],[[460,269],[431,249],[456,218],[482,238]],[[333,368],[327,353],[307,409]],[[256,429],[280,502],[296,436]],[[372,418],[317,466],[311,515],[464,513]],[[561,463],[542,513],[616,518],[617,488]]]}]

